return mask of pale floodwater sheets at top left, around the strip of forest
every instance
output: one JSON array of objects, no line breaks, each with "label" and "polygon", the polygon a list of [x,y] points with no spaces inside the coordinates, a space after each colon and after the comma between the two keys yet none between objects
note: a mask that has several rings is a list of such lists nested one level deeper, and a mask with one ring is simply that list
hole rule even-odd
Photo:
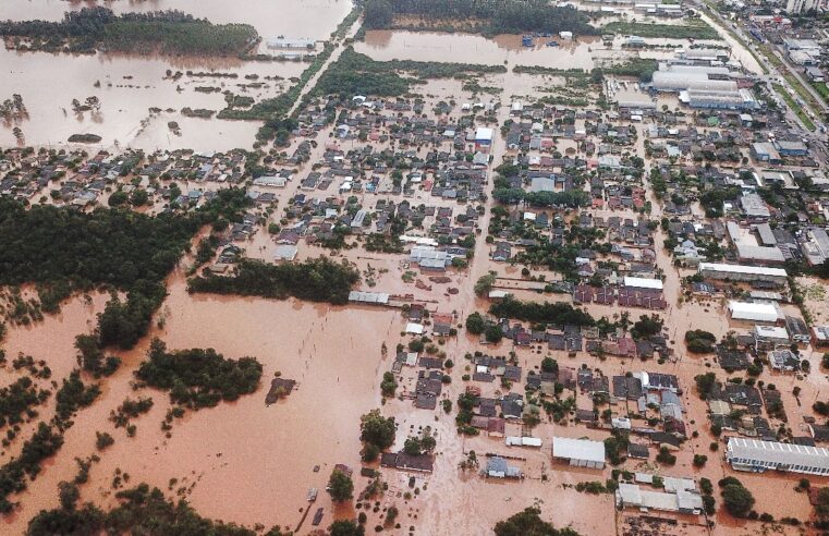
[{"label": "pale floodwater sheets at top left, around the strip of forest", "polygon": [[[60,20],[71,9],[95,5],[96,2],[52,0],[9,0],[0,2],[0,21]],[[268,38],[310,37],[326,39],[351,10],[348,0],[247,0],[244,8],[228,9],[220,0],[150,0],[144,2],[100,2],[115,12],[181,10],[215,23],[248,23],[263,37],[261,51],[267,51]],[[271,51],[273,52],[273,51]],[[227,150],[251,148],[255,142],[257,121],[223,121],[186,118],[181,109],[224,108],[222,92],[253,97],[272,98],[292,84],[307,68],[301,62],[242,62],[234,58],[171,58],[129,57],[123,54],[72,56],[45,52],[19,53],[0,48],[0,100],[20,94],[28,118],[17,124],[0,125],[0,146],[17,144],[12,129],[20,126],[25,145],[68,145],[73,134],[96,134],[102,137],[90,148],[113,145],[145,150],[192,148],[195,150]],[[236,78],[182,77],[163,80],[166,71],[217,72],[235,74]],[[254,82],[245,76],[258,75],[261,88],[243,88]],[[265,77],[281,77],[281,82]],[[100,83],[100,87],[95,87]],[[217,87],[216,93],[199,93],[197,86]],[[72,99],[84,101],[89,96],[101,101],[99,113],[76,114]],[[171,109],[150,117],[149,108]],[[179,123],[181,135],[174,135],[168,122]]]}]

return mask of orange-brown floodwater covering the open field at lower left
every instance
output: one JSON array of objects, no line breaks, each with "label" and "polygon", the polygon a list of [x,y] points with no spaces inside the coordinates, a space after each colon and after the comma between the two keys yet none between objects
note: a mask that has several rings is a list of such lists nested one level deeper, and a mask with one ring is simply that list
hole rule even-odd
[{"label": "orange-brown floodwater covering the open field at lower left", "polygon": [[[74,360],[74,336],[89,330],[92,313],[73,301],[62,321],[47,319],[36,328],[44,337],[11,330],[7,349],[36,358],[60,356],[53,368],[65,375],[64,362]],[[174,489],[195,483],[188,500],[210,517],[293,528],[300,509],[307,505],[307,489],[316,487],[320,494],[315,508],[326,508],[328,525],[332,508],[325,486],[334,464],[356,466],[359,460],[358,416],[379,406],[380,343],[399,329],[398,314],[295,301],[190,296],[182,277],[172,279],[159,314],[164,329],[156,328],[153,336],[170,349],[214,348],[227,357],[256,356],[264,365],[261,388],[235,403],[187,414],[174,423],[170,439],[160,429],[169,407],[167,394],[142,391],[137,394],[151,394],[156,405],[134,421],[138,433],[130,439],[123,429],[113,430],[107,416],[124,398],[136,397],[130,370],[144,358],[149,338],[145,339],[123,355],[125,366],[107,379],[101,400],[78,413],[57,459],[61,462],[20,495],[23,505],[5,520],[8,534],[23,531],[38,510],[57,505],[56,486],[76,471],[71,460],[94,451],[95,430],[111,433],[115,444],[94,466],[83,489],[86,500],[107,504],[113,472],[120,468],[132,483],[164,490],[171,478],[179,479]],[[266,407],[265,394],[276,371],[296,380],[297,387],[287,400]],[[315,465],[320,466],[318,473]]]}]

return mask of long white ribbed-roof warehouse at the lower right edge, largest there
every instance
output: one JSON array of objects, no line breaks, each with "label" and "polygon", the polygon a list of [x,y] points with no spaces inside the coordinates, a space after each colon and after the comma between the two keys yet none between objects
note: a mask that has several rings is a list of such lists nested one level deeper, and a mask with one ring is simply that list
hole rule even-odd
[{"label": "long white ribbed-roof warehouse at the lower right edge, largest there", "polygon": [[737,471],[791,471],[807,475],[829,475],[829,450],[822,447],[760,441],[732,437],[726,460]]}]

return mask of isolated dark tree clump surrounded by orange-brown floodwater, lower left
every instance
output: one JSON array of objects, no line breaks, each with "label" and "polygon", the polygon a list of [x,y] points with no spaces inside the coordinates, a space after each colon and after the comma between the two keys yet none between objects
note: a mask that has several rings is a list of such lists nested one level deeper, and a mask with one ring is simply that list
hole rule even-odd
[{"label": "isolated dark tree clump surrounded by orange-brown floodwater, lower left", "polygon": [[214,349],[168,352],[154,339],[135,377],[148,386],[170,391],[174,404],[199,410],[222,400],[234,401],[259,386],[261,364],[255,357],[228,360]]}]

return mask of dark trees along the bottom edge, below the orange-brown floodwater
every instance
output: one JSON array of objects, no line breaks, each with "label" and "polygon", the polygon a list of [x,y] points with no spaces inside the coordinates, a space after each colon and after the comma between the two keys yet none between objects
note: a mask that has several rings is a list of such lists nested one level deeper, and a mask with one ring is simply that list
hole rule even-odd
[{"label": "dark trees along the bottom edge, below the orange-brown floodwater", "polygon": [[[260,533],[221,521],[202,517],[186,501],[178,503],[164,497],[158,488],[142,484],[115,494],[119,503],[103,511],[93,503],[82,507],[61,501],[62,508],[41,510],[28,523],[29,536],[54,534],[210,534],[212,536],[256,536]],[[264,533],[279,536],[279,527]]]}]

